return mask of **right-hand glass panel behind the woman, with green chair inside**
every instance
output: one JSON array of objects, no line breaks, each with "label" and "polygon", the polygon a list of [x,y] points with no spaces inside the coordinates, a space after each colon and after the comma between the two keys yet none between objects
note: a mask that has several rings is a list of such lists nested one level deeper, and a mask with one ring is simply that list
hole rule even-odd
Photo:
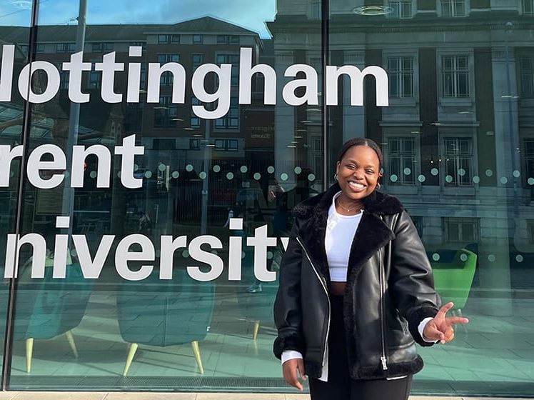
[{"label": "right-hand glass panel behind the woman, with green chair inside", "polygon": [[[412,394],[530,396],[534,51],[521,14],[533,1],[413,1],[410,19],[398,18],[400,3],[330,1],[329,64],[386,69],[389,104],[376,105],[372,76],[361,87],[340,81],[327,176],[346,140],[381,144],[380,190],[417,221],[443,301],[470,317],[450,344],[418,349],[425,367]],[[413,98],[403,99],[410,80],[399,71],[408,69]],[[355,88],[363,107],[351,105]]]}]

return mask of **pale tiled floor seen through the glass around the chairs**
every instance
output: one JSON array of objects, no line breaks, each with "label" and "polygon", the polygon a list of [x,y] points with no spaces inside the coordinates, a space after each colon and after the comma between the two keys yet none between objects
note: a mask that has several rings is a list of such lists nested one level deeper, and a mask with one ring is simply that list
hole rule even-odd
[{"label": "pale tiled floor seen through the glass around the chairs", "polygon": [[[241,289],[225,284],[216,287],[212,323],[206,339],[200,342],[203,379],[246,377],[249,381],[260,380],[251,386],[261,386],[261,379],[267,379],[266,385],[273,384],[281,376],[280,362],[272,354],[276,334],[273,323],[270,319],[261,321],[258,337],[253,340],[255,316],[247,315],[248,311],[239,301],[240,296],[264,296],[267,291],[243,292],[242,286]],[[465,391],[465,387],[471,388],[474,394],[491,393],[492,385],[500,385],[500,391],[504,392],[508,387],[510,394],[516,395],[516,392],[532,389],[534,298],[527,291],[513,292],[510,309],[504,316],[488,315],[488,307],[488,299],[475,292],[463,310],[463,314],[470,317],[467,329],[456,329],[456,339],[450,344],[420,349],[425,368],[416,376],[415,389],[419,387],[420,392],[448,395],[458,395]],[[260,311],[260,314],[268,315],[270,309]],[[15,341],[12,387],[32,389],[43,381],[65,389],[91,386],[91,382],[102,382],[103,386],[106,382],[114,386],[121,386],[121,382],[125,384],[121,376],[127,344],[119,331],[116,291],[94,291],[81,324],[72,332],[79,358],[72,354],[64,335],[46,341],[36,340],[30,374],[26,373],[25,342]],[[140,346],[128,376],[148,382],[153,379],[164,386],[172,379],[198,379],[202,375],[191,345],[182,344]],[[224,385],[224,382],[219,384]],[[282,383],[276,386],[280,388],[278,391],[286,390]],[[291,389],[287,391],[291,392]],[[530,397],[533,393],[524,395]]]}]

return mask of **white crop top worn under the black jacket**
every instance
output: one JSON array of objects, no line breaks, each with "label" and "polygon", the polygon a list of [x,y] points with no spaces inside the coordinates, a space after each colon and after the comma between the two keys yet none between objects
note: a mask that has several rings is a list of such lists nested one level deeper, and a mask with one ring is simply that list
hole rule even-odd
[{"label": "white crop top worn under the black jacket", "polygon": [[356,234],[363,212],[356,215],[339,214],[336,211],[336,199],[340,194],[341,191],[333,196],[326,222],[325,250],[330,279],[333,282],[347,281],[348,256],[351,253],[354,234]]}]

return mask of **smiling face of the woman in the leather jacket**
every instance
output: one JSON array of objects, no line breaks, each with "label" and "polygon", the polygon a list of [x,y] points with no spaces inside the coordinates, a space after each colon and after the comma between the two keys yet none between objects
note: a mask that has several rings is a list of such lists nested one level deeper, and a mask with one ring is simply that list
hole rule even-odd
[{"label": "smiling face of the woman in the leather jacket", "polygon": [[380,172],[380,160],[369,146],[352,146],[336,168],[343,194],[351,200],[362,200],[376,188]]}]

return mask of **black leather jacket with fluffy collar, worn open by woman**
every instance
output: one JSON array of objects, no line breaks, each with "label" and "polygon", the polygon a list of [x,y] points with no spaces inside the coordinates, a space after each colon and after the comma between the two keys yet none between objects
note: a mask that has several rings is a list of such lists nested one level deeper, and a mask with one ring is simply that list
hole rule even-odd
[{"label": "black leather jacket with fluffy collar, worn open by woman", "polygon": [[[328,209],[339,190],[335,184],[293,209],[295,223],[274,304],[274,354],[281,358],[284,350],[300,351],[312,378],[321,376],[330,328],[324,240]],[[364,207],[343,301],[349,372],[353,379],[415,374],[423,368],[415,341],[431,345],[421,338],[418,324],[435,316],[441,303],[430,263],[398,199],[375,191]]]}]

